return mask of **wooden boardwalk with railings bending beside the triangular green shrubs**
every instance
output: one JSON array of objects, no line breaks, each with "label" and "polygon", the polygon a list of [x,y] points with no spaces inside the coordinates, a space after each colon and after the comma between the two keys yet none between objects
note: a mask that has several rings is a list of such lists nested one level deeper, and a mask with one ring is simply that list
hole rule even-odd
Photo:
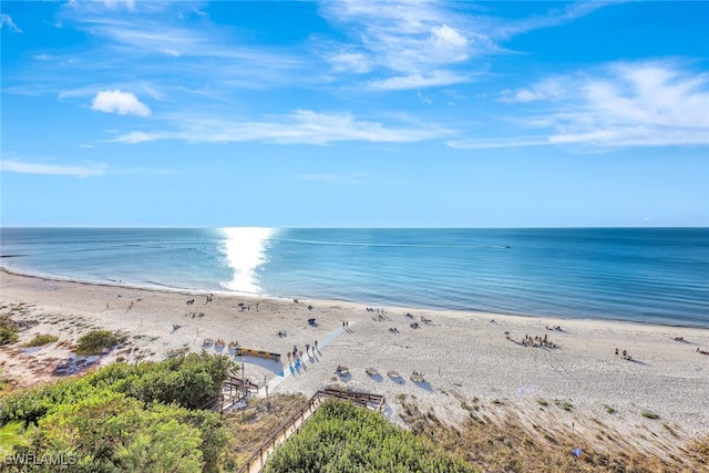
[{"label": "wooden boardwalk with railings bending beside the triangular green shrubs", "polygon": [[286,421],[273,435],[256,449],[246,462],[237,470],[237,473],[260,473],[268,457],[284,443],[290,435],[298,432],[300,428],[318,410],[322,401],[327,398],[338,398],[352,401],[362,408],[372,409],[378,412],[384,407],[384,397],[379,394],[368,394],[361,392],[338,391],[333,389],[321,389],[316,392],[308,403]]}]

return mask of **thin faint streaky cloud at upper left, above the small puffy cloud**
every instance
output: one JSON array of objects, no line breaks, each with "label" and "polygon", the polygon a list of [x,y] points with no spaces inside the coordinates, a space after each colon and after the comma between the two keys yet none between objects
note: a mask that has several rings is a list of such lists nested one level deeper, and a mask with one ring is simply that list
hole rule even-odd
[{"label": "thin faint streaky cloud at upper left, above the small puffy cloud", "polygon": [[[156,10],[147,6],[157,4]],[[189,2],[137,2],[141,14],[116,14],[95,4],[78,11],[70,10],[75,27],[106,42],[115,51],[113,56],[130,58],[141,64],[141,74],[163,76],[168,68],[181,78],[214,78],[216,82],[244,78],[242,84],[264,86],[264,83],[295,81],[291,72],[305,68],[307,62],[295,51],[249,45],[235,40],[234,32],[203,19]],[[163,8],[174,8],[167,12]],[[146,10],[146,11],[144,11]],[[195,17],[199,23],[195,24]],[[89,60],[82,61],[89,64]],[[95,68],[95,61],[91,61]],[[107,69],[122,64],[102,58]],[[255,64],[258,64],[256,68]],[[120,68],[120,65],[119,65]]]}]

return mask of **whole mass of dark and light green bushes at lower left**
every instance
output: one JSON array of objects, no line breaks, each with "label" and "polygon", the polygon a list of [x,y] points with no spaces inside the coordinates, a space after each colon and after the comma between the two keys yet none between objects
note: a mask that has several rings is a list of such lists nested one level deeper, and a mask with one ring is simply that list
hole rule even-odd
[{"label": "whole mass of dark and light green bushes at lower left", "polygon": [[75,472],[216,472],[227,431],[218,414],[196,408],[235,369],[226,357],[206,353],[113,363],[0,398],[0,425],[23,426],[25,442],[14,446],[17,454],[63,452],[78,460]]}]

